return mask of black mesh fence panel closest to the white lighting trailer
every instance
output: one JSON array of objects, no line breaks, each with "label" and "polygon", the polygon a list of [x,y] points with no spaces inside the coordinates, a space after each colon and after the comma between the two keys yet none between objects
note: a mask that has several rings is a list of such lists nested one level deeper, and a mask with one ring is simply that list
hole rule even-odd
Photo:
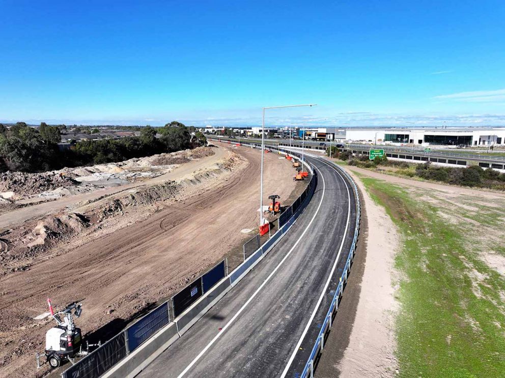
[{"label": "black mesh fence panel closest to the white lighting trailer", "polygon": [[63,378],[98,378],[126,356],[125,334],[121,332],[96,351],[63,372]]}]

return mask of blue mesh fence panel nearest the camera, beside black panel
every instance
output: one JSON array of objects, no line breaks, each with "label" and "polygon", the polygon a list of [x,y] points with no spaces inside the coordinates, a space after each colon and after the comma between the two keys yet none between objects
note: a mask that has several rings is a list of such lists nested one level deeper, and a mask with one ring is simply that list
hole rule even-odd
[{"label": "blue mesh fence panel nearest the camera, beside black panel", "polygon": [[128,334],[128,350],[130,353],[151,335],[169,324],[169,322],[169,302],[165,302],[128,327],[126,332]]}]

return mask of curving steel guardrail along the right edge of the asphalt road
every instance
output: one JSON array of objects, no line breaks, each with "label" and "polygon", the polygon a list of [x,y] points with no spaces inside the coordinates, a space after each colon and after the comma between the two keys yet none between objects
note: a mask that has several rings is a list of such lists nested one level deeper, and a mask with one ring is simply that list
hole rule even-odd
[{"label": "curving steel guardrail along the right edge of the asphalt road", "polygon": [[344,285],[347,282],[347,277],[349,270],[351,269],[351,264],[352,264],[352,259],[354,257],[354,252],[356,250],[356,242],[358,239],[358,234],[359,234],[359,220],[360,220],[360,215],[361,215],[361,202],[359,200],[359,192],[356,184],[354,183],[354,180],[349,176],[349,174],[346,172],[345,169],[340,167],[339,165],[327,161],[326,159],[317,157],[318,160],[323,161],[324,163],[332,166],[333,168],[339,170],[343,175],[346,177],[346,179],[351,183],[353,189],[354,189],[354,196],[356,198],[356,225],[354,229],[354,237],[352,240],[352,245],[349,250],[349,254],[347,256],[346,260],[346,265],[344,267],[344,271],[342,273],[342,276],[340,277],[340,282],[339,285],[336,287],[335,290],[335,295],[333,296],[333,299],[331,300],[330,308],[328,309],[328,312],[326,313],[326,316],[324,318],[324,322],[321,326],[321,330],[319,331],[319,334],[316,338],[316,342],[314,343],[314,347],[312,348],[312,352],[305,364],[305,367],[303,368],[303,371],[300,375],[301,378],[305,378],[307,376],[310,376],[313,378],[314,376],[314,361],[316,358],[323,352],[324,348],[324,336],[329,332],[331,328],[331,322],[333,319],[334,313],[338,310],[339,307],[339,300],[342,297],[342,292],[344,290]]}]

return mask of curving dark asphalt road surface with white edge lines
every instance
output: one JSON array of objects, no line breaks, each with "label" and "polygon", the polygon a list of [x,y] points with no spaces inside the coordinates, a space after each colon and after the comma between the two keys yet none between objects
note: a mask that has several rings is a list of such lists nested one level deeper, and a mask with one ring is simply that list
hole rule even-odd
[{"label": "curving dark asphalt road surface with white edge lines", "polygon": [[345,266],[355,198],[319,160],[311,202],[286,237],[139,377],[299,376]]}]

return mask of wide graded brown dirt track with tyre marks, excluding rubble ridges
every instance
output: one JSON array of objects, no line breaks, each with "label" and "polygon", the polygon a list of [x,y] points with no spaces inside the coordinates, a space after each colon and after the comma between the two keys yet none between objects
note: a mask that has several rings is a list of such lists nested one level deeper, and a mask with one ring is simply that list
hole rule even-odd
[{"label": "wide graded brown dirt track with tyre marks, excluding rubble ridges", "polygon": [[[97,334],[114,333],[133,314],[171,296],[252,236],[241,230],[258,226],[260,153],[219,147],[218,154],[233,154],[240,163],[196,190],[188,187],[190,195],[158,205],[147,219],[133,217],[132,223],[128,214],[122,215],[122,228],[108,234],[99,230],[80,243],[64,242],[46,251],[30,270],[0,278],[0,376],[35,377],[47,372],[47,368],[37,371],[34,360],[35,352],[44,348],[46,330],[54,324],[49,318],[34,319],[47,311],[47,297],[58,308],[82,302],[77,326],[83,334],[99,329]],[[215,156],[202,158],[197,164],[200,170],[205,159],[215,165]],[[181,165],[170,179],[177,180],[179,169],[181,178],[187,178],[188,167]],[[290,197],[301,186],[292,177],[288,160],[265,154],[264,203],[270,194]],[[24,216],[16,214],[16,221]],[[45,208],[38,213],[44,214]]]}]

